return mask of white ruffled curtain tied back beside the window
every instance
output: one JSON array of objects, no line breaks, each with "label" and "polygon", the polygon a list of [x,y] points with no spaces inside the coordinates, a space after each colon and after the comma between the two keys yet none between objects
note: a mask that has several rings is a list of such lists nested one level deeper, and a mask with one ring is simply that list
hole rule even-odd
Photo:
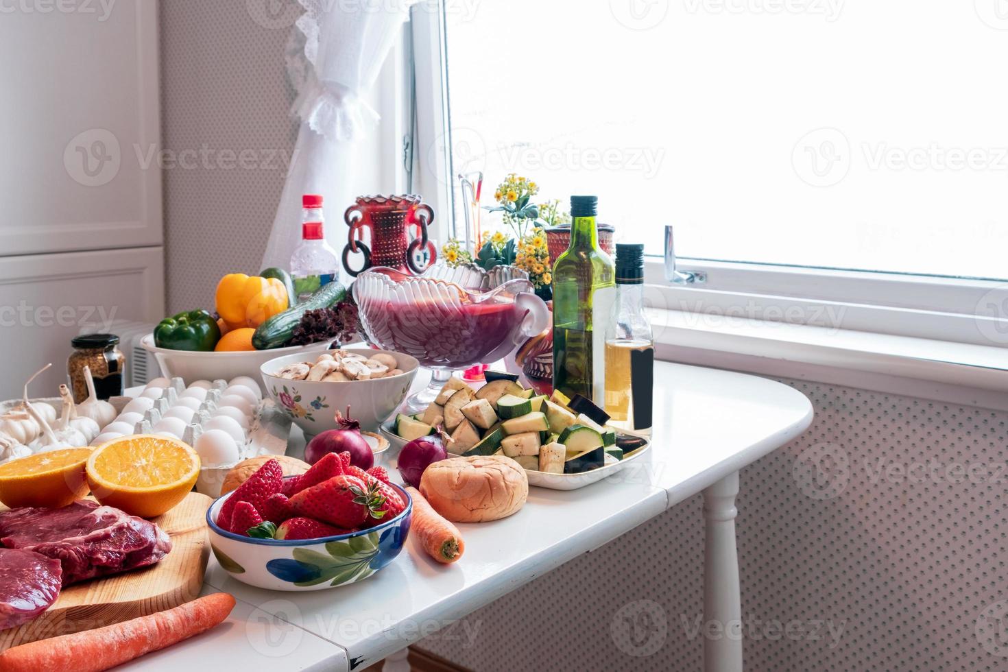
[{"label": "white ruffled curtain tied back beside the window", "polygon": [[287,68],[300,119],[297,143],[273,219],[262,268],[287,268],[300,242],[301,194],[321,193],[326,239],[342,253],[344,211],[360,194],[347,176],[358,145],[375,128],[378,114],[363,96],[374,84],[409,7],[415,0],[299,0],[304,14],[287,49]]}]

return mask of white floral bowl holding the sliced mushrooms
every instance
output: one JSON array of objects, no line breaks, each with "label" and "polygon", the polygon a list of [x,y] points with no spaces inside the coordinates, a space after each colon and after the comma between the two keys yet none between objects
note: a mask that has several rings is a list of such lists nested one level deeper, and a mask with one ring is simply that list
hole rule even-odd
[{"label": "white floral bowl holding the sliced mushrooms", "polygon": [[345,348],[346,353],[371,357],[385,353],[395,358],[403,373],[364,381],[296,381],[275,376],[280,369],[298,362],[314,362],[314,357],[288,355],[266,362],[259,371],[266,393],[308,436],[336,429],[336,412],[346,413],[361,423],[361,428],[378,431],[405,399],[416,376],[419,362],[408,355],[370,348]]}]

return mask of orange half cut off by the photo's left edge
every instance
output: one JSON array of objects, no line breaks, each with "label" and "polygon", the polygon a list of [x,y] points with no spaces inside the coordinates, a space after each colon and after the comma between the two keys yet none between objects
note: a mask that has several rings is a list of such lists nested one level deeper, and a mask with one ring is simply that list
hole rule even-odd
[{"label": "orange half cut off by the photo's left edge", "polygon": [[88,494],[84,464],[91,448],[61,448],[0,464],[0,502],[14,507],[58,508]]}]

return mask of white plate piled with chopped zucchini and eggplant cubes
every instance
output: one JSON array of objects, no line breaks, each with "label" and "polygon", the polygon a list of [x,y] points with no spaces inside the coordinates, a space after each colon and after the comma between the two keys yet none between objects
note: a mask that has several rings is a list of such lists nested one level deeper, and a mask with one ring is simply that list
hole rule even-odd
[{"label": "white plate piled with chopped zucchini and eggplant cubes", "polygon": [[647,451],[650,443],[607,426],[609,416],[590,400],[559,392],[549,397],[523,388],[513,374],[486,372],[474,389],[460,378],[446,383],[424,411],[398,414],[382,425],[393,444],[435,433],[456,455],[505,455],[525,469],[528,483],[576,490],[601,481]]}]

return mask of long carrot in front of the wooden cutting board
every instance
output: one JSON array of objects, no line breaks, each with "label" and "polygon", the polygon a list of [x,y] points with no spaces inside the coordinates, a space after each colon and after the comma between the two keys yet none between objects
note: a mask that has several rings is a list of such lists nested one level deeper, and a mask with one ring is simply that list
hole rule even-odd
[{"label": "long carrot in front of the wooden cutting board", "polygon": [[22,644],[0,653],[0,670],[101,672],[210,630],[234,607],[234,597],[215,592],[166,612]]}]

